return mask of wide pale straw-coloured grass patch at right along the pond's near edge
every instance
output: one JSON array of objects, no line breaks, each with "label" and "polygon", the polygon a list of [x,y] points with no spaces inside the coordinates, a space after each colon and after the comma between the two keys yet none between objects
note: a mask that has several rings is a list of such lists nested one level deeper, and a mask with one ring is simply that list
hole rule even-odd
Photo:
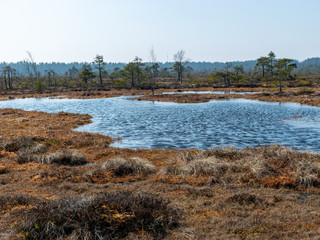
[{"label": "wide pale straw-coloured grass patch at right along the pond's near edge", "polygon": [[280,145],[221,148],[180,155],[167,174],[213,177],[215,182],[268,187],[320,185],[320,155]]}]

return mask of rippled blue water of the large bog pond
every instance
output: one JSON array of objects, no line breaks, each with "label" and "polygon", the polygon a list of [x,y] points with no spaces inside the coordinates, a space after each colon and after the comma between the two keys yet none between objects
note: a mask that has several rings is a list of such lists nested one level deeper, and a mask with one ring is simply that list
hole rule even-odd
[{"label": "rippled blue water of the large bog pond", "polygon": [[204,150],[280,143],[320,152],[317,107],[245,99],[179,104],[126,98],[15,99],[0,102],[0,108],[88,113],[93,123],[77,131],[123,138],[116,147]]}]

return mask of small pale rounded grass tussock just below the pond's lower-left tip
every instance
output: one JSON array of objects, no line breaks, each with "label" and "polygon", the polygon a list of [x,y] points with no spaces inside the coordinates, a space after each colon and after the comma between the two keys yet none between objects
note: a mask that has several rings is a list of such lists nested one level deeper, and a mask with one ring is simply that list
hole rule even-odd
[{"label": "small pale rounded grass tussock just below the pond's lower-left tip", "polygon": [[156,168],[151,163],[141,158],[116,158],[105,162],[102,169],[112,171],[119,177],[139,174],[148,175],[156,172]]}]

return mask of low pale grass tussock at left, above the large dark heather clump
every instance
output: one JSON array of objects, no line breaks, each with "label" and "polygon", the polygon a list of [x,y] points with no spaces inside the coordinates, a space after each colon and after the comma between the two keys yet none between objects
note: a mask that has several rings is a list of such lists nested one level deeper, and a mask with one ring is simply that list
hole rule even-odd
[{"label": "low pale grass tussock at left, above the large dark heather clump", "polygon": [[59,165],[83,165],[88,163],[86,158],[76,150],[63,150],[55,153],[32,154],[20,153],[17,158],[18,163],[40,162],[43,164]]}]

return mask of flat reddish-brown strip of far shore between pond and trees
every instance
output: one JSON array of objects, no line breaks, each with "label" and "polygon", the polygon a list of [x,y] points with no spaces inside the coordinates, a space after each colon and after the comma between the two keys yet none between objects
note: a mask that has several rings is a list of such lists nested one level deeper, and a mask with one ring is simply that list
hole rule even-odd
[{"label": "flat reddish-brown strip of far shore between pond and trees", "polygon": [[[166,92],[181,93],[185,91],[212,91],[225,92],[225,94],[163,94]],[[230,94],[230,92],[259,92],[252,94]],[[45,92],[23,93],[19,91],[2,92],[0,94],[0,101],[12,100],[16,98],[61,98],[61,99],[97,99],[97,98],[112,98],[120,96],[136,96],[143,95],[137,98],[130,98],[130,100],[145,100],[145,101],[160,101],[160,102],[177,102],[177,103],[202,103],[211,100],[230,99],[230,98],[244,98],[252,100],[260,100],[266,102],[295,102],[306,104],[310,106],[320,107],[320,89],[319,88],[288,88],[283,93],[279,93],[274,88],[182,88],[182,89],[156,89],[155,95],[151,95],[150,90],[110,90],[110,91],[63,91],[63,92]]]}]

